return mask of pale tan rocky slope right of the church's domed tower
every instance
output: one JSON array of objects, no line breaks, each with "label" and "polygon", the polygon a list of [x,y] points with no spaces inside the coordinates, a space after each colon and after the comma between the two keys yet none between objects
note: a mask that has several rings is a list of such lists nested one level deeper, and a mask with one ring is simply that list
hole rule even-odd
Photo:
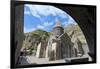
[{"label": "pale tan rocky slope right of the church's domed tower", "polygon": [[71,37],[71,39],[74,41],[74,39],[78,38],[83,44],[86,44],[86,39],[84,37],[84,34],[82,33],[82,30],[78,25],[70,24],[67,27],[64,28],[65,32]]}]

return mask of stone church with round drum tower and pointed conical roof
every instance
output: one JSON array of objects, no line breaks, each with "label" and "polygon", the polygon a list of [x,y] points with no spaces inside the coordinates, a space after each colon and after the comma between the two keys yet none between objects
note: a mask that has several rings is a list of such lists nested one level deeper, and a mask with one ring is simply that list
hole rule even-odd
[{"label": "stone church with round drum tower and pointed conical roof", "polygon": [[37,47],[36,57],[59,60],[77,57],[77,49],[71,41],[71,37],[64,32],[60,22],[57,22],[52,30],[47,45],[40,43]]}]

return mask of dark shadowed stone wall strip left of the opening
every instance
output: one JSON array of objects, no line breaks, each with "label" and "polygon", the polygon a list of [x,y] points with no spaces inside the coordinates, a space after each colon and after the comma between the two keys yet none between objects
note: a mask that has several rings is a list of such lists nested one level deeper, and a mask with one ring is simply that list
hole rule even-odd
[{"label": "dark shadowed stone wall strip left of the opening", "polygon": [[[18,58],[20,56],[20,49],[22,47],[22,43],[23,43],[23,39],[24,39],[24,32],[23,32],[23,12],[24,12],[24,9],[23,9],[24,5],[19,5],[19,6],[16,6],[15,7],[15,28],[14,29],[14,49],[15,49],[15,53],[14,53],[14,61],[15,63],[14,64],[17,64],[18,63]],[[20,16],[18,16],[20,15]]]}]

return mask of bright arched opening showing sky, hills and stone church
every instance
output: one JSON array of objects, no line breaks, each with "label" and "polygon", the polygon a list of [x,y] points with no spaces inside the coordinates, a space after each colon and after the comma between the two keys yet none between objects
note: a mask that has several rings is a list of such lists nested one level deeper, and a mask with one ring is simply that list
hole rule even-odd
[{"label": "bright arched opening showing sky, hills and stone church", "polygon": [[[41,6],[41,12],[39,11],[40,6]],[[30,23],[32,21],[34,21],[33,25]],[[55,27],[57,23],[61,23],[62,25],[61,27],[57,25],[58,29],[57,27]],[[56,31],[54,31],[53,28],[55,28]],[[53,35],[53,33],[57,32],[61,28],[64,28],[64,33],[58,36],[56,34]],[[54,32],[52,32],[52,30]],[[57,33],[59,32],[60,31],[58,31]],[[25,33],[24,34],[25,40],[23,41],[23,46],[21,49],[21,52],[23,52],[24,54],[21,56],[27,56],[26,59],[29,60],[33,56],[35,56],[34,59],[37,59],[37,57],[40,59],[45,58],[43,59],[44,61],[45,60],[47,61],[48,59],[51,61],[51,60],[59,60],[72,57],[82,57],[84,53],[87,55],[89,52],[86,39],[81,29],[75,22],[75,20],[66,12],[54,6],[27,5],[24,8],[24,33]],[[59,37],[59,39],[55,38],[55,36]],[[51,41],[52,44],[50,46],[49,44]],[[60,47],[60,44],[62,47]],[[82,46],[83,44],[85,44],[87,48],[86,47],[83,48]],[[57,46],[59,47],[59,49]],[[73,48],[75,49],[73,50]],[[53,50],[53,52],[49,50]],[[50,55],[50,53],[51,54],[56,53],[56,54]],[[66,53],[68,55],[66,55]]]}]

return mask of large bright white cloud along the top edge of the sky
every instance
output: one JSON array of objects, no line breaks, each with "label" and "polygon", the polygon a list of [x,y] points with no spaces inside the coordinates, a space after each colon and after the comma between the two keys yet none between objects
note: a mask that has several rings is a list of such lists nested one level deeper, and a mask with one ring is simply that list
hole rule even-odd
[{"label": "large bright white cloud along the top edge of the sky", "polygon": [[48,15],[53,15],[53,16],[61,16],[63,18],[66,17],[66,13],[56,7],[53,6],[47,6],[47,5],[28,5],[26,4],[25,6],[29,7],[30,12],[32,13],[33,16],[36,16],[40,18],[40,15],[43,16],[48,16]]}]

